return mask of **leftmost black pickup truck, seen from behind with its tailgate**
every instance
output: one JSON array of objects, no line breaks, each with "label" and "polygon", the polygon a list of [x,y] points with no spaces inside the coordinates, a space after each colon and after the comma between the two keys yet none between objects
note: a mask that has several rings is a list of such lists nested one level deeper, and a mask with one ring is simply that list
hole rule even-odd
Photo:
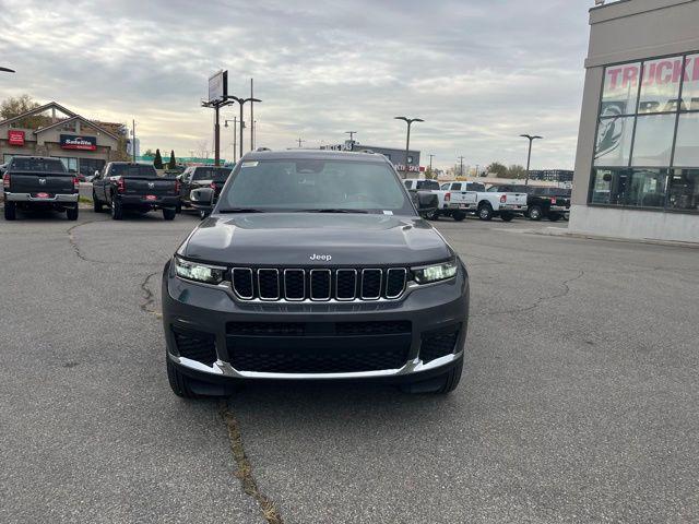
[{"label": "leftmost black pickup truck, seen from behind with its tailgate", "polygon": [[4,219],[17,210],[55,210],[78,219],[79,181],[58,158],[15,156],[2,175]]}]

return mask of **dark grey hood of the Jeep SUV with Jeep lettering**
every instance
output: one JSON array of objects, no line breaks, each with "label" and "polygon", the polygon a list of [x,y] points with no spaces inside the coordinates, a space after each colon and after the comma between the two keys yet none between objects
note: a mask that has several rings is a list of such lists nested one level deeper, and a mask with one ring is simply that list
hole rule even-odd
[{"label": "dark grey hood of the Jeep SUV with Jeep lettering", "polygon": [[453,255],[422,218],[325,213],[212,215],[177,252],[222,265],[271,267],[419,265]]}]

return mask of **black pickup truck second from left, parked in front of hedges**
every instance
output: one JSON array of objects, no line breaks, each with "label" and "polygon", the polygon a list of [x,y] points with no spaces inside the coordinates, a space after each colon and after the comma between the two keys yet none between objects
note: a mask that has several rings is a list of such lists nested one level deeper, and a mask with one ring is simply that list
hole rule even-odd
[{"label": "black pickup truck second from left, parked in front of hedges", "polygon": [[151,165],[111,162],[95,175],[92,200],[95,213],[108,206],[115,221],[123,217],[125,210],[163,210],[163,218],[171,221],[180,205],[179,186],[179,180],[158,177]]}]

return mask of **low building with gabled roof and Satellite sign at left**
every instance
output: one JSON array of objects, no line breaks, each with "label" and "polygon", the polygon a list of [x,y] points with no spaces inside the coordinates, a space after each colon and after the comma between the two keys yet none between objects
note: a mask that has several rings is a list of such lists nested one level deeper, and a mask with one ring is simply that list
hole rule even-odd
[{"label": "low building with gabled roof and Satellite sign at left", "polygon": [[0,164],[13,156],[54,156],[85,176],[126,155],[123,126],[88,120],[51,102],[0,121]]}]

